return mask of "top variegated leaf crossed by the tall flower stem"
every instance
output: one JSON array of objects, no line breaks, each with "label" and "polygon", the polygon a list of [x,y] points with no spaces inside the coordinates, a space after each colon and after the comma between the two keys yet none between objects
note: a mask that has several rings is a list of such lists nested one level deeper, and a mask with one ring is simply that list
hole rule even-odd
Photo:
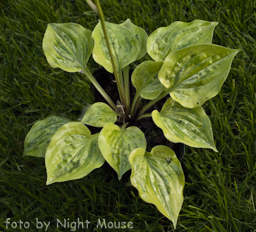
[{"label": "top variegated leaf crossed by the tall flower stem", "polygon": [[[116,68],[119,70],[136,61],[140,53],[140,43],[136,40],[131,31],[123,25],[111,24],[109,22],[105,22],[105,24]],[[94,61],[102,65],[109,73],[113,73],[101,22],[99,22],[93,30],[92,38],[95,41],[92,53]]]}]

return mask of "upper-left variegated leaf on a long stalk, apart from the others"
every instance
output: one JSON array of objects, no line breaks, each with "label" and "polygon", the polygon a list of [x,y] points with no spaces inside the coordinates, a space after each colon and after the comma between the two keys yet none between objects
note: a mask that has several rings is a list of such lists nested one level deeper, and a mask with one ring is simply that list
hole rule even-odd
[{"label": "upper-left variegated leaf on a long stalk, apart from the others", "polygon": [[43,50],[52,68],[81,71],[92,54],[92,33],[79,24],[48,24]]}]

